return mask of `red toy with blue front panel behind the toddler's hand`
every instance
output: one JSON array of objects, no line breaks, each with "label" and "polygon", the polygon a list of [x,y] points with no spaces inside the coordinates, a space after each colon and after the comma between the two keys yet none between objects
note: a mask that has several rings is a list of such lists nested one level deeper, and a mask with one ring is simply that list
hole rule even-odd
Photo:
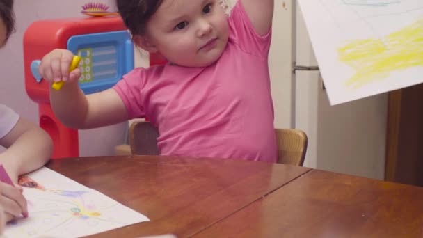
[{"label": "red toy with blue front panel behind the toddler's hand", "polygon": [[40,58],[57,48],[81,58],[79,86],[86,94],[113,87],[134,68],[134,45],[120,17],[42,20],[26,29],[26,93],[38,103],[40,127],[54,141],[54,159],[79,156],[79,133],[56,118],[49,101],[49,90],[53,89],[38,74]]}]

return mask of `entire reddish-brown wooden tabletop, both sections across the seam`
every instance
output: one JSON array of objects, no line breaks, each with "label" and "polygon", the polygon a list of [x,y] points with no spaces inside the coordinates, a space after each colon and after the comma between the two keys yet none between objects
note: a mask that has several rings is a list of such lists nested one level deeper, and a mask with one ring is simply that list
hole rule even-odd
[{"label": "entire reddish-brown wooden tabletop, both sections across the seam", "polygon": [[423,237],[423,188],[282,164],[86,157],[48,167],[151,219],[93,237]]}]

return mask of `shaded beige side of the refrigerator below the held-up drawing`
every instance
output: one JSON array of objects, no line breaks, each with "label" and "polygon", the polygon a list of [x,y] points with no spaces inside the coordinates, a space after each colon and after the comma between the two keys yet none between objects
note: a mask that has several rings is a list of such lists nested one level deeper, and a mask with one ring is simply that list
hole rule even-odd
[{"label": "shaded beige side of the refrigerator below the held-up drawing", "polygon": [[383,180],[387,94],[330,106],[320,91],[317,168]]}]

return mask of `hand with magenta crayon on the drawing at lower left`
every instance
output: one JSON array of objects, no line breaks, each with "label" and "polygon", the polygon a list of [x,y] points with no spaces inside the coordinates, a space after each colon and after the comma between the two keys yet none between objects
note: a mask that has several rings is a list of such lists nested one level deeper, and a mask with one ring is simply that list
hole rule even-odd
[{"label": "hand with magenta crayon on the drawing at lower left", "polygon": [[4,223],[11,221],[21,214],[28,214],[26,199],[22,194],[22,187],[13,187],[4,182],[0,182],[0,227]]}]

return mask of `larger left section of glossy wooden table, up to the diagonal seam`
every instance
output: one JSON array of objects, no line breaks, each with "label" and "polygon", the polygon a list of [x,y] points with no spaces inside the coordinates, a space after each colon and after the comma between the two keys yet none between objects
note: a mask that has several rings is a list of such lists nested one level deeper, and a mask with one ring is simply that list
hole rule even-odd
[{"label": "larger left section of glossy wooden table, up to the diagonal seam", "polygon": [[93,237],[195,235],[236,214],[309,168],[176,157],[85,157],[47,167],[141,212],[151,221]]}]

